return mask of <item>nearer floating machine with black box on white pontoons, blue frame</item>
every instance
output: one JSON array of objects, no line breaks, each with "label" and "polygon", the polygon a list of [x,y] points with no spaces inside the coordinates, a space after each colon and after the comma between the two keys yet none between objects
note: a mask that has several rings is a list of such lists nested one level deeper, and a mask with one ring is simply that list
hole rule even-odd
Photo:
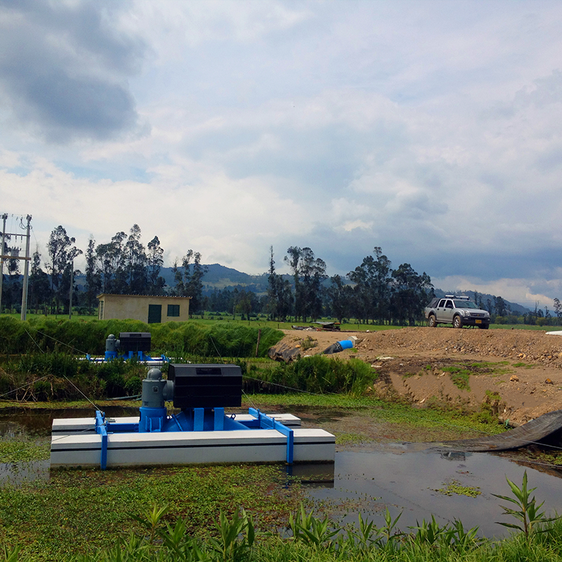
[{"label": "nearer floating machine with black box on white pontoons, blue frame", "polygon": [[[168,415],[166,401],[178,414]],[[242,404],[237,365],[170,364],[143,380],[139,417],[54,419],[51,467],[334,462],[335,437],[292,414],[227,414]]]}]

